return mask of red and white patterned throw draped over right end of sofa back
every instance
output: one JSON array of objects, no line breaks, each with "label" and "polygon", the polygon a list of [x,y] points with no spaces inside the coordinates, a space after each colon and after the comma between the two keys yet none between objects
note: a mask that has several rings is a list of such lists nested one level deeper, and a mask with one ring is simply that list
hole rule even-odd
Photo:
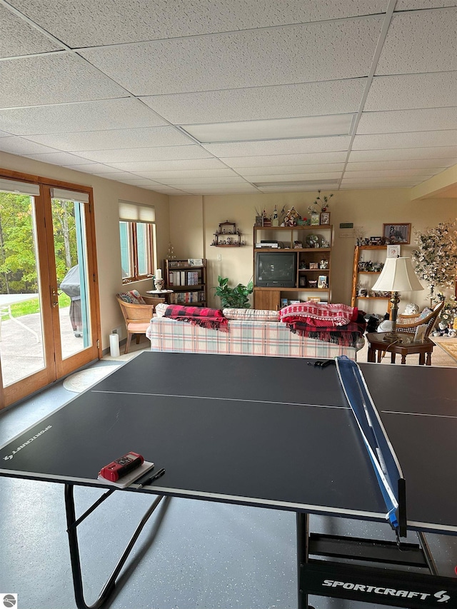
[{"label": "red and white patterned throw draped over right end of sofa back", "polygon": [[279,311],[279,318],[284,323],[300,322],[323,328],[347,326],[356,321],[357,315],[356,307],[313,302],[291,304]]}]

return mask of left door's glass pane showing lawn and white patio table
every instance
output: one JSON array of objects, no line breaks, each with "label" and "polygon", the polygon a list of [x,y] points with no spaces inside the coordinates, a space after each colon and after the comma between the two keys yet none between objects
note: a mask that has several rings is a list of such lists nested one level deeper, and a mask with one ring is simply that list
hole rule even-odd
[{"label": "left door's glass pane showing lawn and white patio table", "polygon": [[3,386],[45,367],[34,197],[0,191],[0,357]]}]

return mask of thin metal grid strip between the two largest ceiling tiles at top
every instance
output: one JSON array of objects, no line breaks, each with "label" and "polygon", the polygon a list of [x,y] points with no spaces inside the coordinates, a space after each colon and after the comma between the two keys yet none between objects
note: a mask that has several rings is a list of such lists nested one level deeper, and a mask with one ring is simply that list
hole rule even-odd
[{"label": "thin metal grid strip between the two largest ceiling tiles at top", "polygon": [[[4,0],[0,0],[3,2]],[[99,49],[115,49],[119,46],[129,46],[134,44],[148,44],[154,42],[168,42],[168,41],[181,41],[181,40],[189,40],[189,39],[200,39],[200,38],[209,38],[210,36],[233,36],[233,34],[244,34],[244,33],[252,33],[258,31],[266,31],[266,30],[279,30],[279,29],[291,29],[298,26],[313,26],[314,24],[331,24],[331,23],[341,23],[341,21],[355,21],[356,19],[373,19],[373,17],[377,16],[385,16],[387,11],[381,11],[379,13],[366,14],[366,15],[352,15],[347,17],[338,17],[336,19],[320,19],[319,21],[300,21],[297,23],[291,24],[279,24],[273,26],[261,26],[261,27],[252,27],[252,28],[243,28],[243,29],[235,29],[235,30],[226,30],[226,31],[210,31],[202,34],[189,34],[187,36],[171,36],[169,38],[158,38],[158,39],[148,39],[148,40],[140,40],[140,41],[129,41],[129,42],[116,42],[111,44],[103,44],[96,46],[74,46],[69,47],[69,49],[73,51],[97,51]],[[34,23],[33,21],[31,23]]]}]

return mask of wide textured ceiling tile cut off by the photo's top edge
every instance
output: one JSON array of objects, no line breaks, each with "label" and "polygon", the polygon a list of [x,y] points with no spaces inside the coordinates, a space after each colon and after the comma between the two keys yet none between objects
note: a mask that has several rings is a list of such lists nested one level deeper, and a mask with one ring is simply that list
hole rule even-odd
[{"label": "wide textured ceiling tile cut off by the photo's top edge", "polygon": [[262,0],[253,10],[246,0],[10,0],[70,46],[195,36],[214,31],[264,28],[305,21],[378,13],[386,0]]}]

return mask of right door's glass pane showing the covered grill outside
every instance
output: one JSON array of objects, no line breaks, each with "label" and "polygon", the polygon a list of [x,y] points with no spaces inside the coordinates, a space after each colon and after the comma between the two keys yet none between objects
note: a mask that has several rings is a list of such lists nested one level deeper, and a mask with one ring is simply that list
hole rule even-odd
[{"label": "right door's glass pane showing the covered grill outside", "polygon": [[91,346],[86,203],[52,198],[62,359]]}]

